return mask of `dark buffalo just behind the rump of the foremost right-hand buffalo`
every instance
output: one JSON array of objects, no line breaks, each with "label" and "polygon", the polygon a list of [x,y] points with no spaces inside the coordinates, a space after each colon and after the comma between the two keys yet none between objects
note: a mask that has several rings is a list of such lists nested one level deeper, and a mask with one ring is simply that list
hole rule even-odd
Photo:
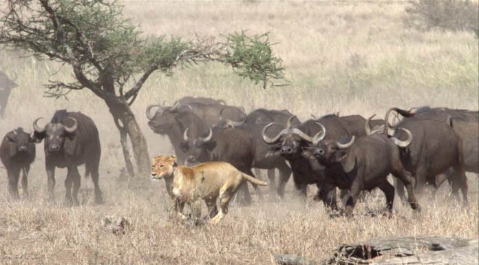
[{"label": "dark buffalo just behind the rump of the foremost right-hand buffalo", "polygon": [[[390,125],[388,118],[391,112],[405,115],[405,118],[396,125]],[[412,173],[416,180],[416,189],[422,190],[426,184],[440,182],[437,176],[449,173],[449,181],[452,182],[452,190],[455,195],[458,189],[462,192],[462,198],[467,204],[467,178],[465,175],[464,148],[462,139],[454,130],[455,123],[449,116],[446,120],[438,121],[431,118],[419,118],[414,114],[393,107],[387,111],[384,132],[388,136],[403,138],[402,131],[396,128],[402,127],[412,132],[414,140],[411,145],[401,151],[401,160],[405,169]],[[396,135],[397,134],[397,135]],[[404,189],[398,185],[398,194],[404,198]]]}]

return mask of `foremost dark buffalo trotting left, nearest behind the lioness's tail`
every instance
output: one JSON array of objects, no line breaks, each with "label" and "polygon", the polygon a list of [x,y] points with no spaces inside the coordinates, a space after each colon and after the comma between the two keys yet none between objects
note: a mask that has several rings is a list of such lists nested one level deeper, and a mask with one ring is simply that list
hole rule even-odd
[{"label": "foremost dark buffalo trotting left, nearest behind the lioness's tail", "polygon": [[387,176],[392,173],[406,185],[412,209],[418,209],[418,202],[412,191],[413,179],[403,168],[398,149],[398,146],[405,148],[412,142],[411,133],[407,129],[403,130],[408,134],[407,140],[404,141],[375,133],[357,140],[352,136],[350,142],[341,144],[336,140],[323,140],[328,134],[323,127],[312,139],[311,147],[314,156],[325,166],[319,191],[321,200],[331,200],[328,196],[335,187],[348,189],[350,193],[345,198],[345,212],[346,216],[351,216],[359,193],[378,187],[386,195],[387,210],[392,213],[394,187],[387,182]]}]

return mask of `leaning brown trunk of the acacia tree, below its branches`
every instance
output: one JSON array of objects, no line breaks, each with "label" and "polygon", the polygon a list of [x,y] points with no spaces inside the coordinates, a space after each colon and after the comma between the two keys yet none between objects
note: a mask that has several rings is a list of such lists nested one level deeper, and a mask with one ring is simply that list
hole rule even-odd
[{"label": "leaning brown trunk of the acacia tree, below its branches", "polygon": [[[111,98],[111,100],[105,100],[107,103],[111,115],[114,118],[116,127],[120,131],[120,141],[123,147],[123,157],[128,173],[131,175],[133,169],[131,166],[131,160],[129,159],[129,148],[126,134],[131,141],[131,148],[133,149],[134,158],[136,161],[136,171],[140,176],[146,176],[149,173],[149,153],[147,140],[140,129],[140,126],[136,122],[135,115],[131,112],[129,105],[124,100],[118,100],[118,98]],[[121,125],[118,123],[121,121]]]}]

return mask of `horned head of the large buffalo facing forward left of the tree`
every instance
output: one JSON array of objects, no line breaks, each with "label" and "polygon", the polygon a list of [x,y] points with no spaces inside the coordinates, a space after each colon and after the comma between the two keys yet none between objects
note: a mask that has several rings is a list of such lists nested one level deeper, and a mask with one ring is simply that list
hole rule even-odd
[{"label": "horned head of the large buffalo facing forward left of the tree", "polygon": [[41,140],[45,139],[45,150],[51,153],[60,151],[63,147],[63,142],[65,142],[65,138],[71,137],[75,133],[78,122],[74,118],[67,118],[73,122],[73,125],[70,127],[62,123],[48,123],[45,127],[39,127],[37,123],[41,118],[34,120],[34,137],[37,142],[41,142]]}]

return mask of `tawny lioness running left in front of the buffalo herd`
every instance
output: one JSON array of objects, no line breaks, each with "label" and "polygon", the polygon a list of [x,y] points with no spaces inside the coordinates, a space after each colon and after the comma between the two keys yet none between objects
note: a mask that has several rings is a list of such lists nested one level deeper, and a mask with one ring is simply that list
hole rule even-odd
[{"label": "tawny lioness running left in front of the buffalo herd", "polygon": [[151,166],[151,178],[172,179],[171,193],[177,202],[175,211],[183,219],[186,219],[182,213],[184,204],[193,204],[200,198],[206,202],[212,217],[217,212],[216,199],[219,197],[220,211],[211,220],[213,224],[220,222],[228,213],[228,203],[243,180],[257,185],[267,185],[266,182],[242,173],[227,162],[204,162],[187,167],[178,165],[175,156],[155,156]]}]

